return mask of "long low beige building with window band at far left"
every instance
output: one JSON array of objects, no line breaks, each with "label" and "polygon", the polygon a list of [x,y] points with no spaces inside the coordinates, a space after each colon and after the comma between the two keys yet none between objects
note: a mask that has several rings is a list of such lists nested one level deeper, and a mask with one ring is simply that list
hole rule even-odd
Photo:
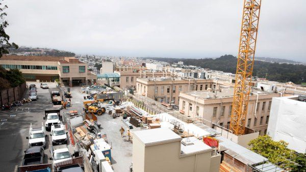
[{"label": "long low beige building with window band at far left", "polygon": [[30,81],[59,79],[72,87],[96,80],[96,75],[87,70],[87,64],[74,57],[4,55],[0,64],[5,69],[19,69]]}]

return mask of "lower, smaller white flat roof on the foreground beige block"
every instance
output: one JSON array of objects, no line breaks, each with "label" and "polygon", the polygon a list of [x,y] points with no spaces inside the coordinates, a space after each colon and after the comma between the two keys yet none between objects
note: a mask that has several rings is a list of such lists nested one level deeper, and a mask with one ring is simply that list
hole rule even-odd
[{"label": "lower, smaller white flat roof on the foreground beige block", "polygon": [[[185,144],[184,144],[185,143]],[[181,142],[181,155],[212,151],[213,149],[195,137],[186,137]]]}]

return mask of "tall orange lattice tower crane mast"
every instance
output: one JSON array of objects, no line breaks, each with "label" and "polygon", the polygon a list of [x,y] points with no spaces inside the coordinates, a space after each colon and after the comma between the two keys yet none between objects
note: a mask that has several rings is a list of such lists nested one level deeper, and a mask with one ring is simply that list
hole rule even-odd
[{"label": "tall orange lattice tower crane mast", "polygon": [[261,0],[244,0],[230,130],[245,133]]}]

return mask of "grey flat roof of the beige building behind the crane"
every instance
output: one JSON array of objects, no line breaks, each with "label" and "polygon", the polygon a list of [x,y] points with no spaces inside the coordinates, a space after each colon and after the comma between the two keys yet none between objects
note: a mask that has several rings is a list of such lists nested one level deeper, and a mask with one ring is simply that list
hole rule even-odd
[{"label": "grey flat roof of the beige building behind the crane", "polygon": [[[187,92],[182,92],[184,94],[188,94],[194,97],[202,98],[202,99],[211,99],[211,98],[224,98],[224,97],[233,97],[234,95],[234,88],[226,88],[226,89],[221,89],[220,91],[187,91]],[[262,90],[257,90],[253,89],[253,93],[257,94],[271,94],[269,92],[265,92]]]}]

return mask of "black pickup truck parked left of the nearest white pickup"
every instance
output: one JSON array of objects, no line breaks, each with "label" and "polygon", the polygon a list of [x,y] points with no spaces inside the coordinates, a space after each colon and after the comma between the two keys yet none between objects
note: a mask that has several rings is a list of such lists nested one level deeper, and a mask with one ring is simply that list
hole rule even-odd
[{"label": "black pickup truck parked left of the nearest white pickup", "polygon": [[24,151],[22,166],[43,164],[44,151],[40,146],[28,148]]}]

